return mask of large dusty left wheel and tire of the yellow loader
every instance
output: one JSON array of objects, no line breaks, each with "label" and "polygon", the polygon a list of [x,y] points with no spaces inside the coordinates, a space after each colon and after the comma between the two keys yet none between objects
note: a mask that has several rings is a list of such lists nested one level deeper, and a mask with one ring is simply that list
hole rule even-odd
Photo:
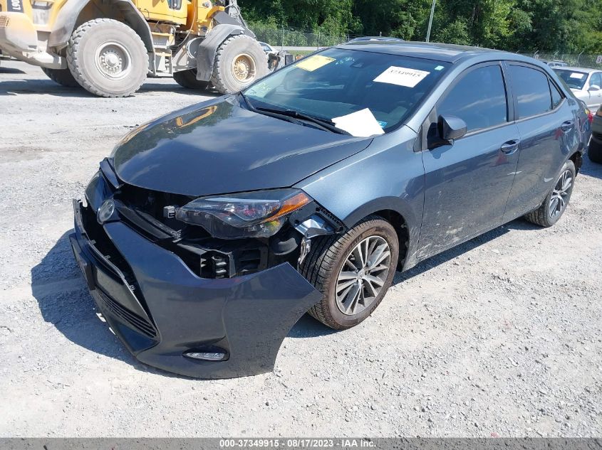
[{"label": "large dusty left wheel and tire of the yellow loader", "polygon": [[73,77],[99,97],[128,97],[140,89],[148,55],[132,28],[110,18],[96,18],[73,31],[67,47]]}]

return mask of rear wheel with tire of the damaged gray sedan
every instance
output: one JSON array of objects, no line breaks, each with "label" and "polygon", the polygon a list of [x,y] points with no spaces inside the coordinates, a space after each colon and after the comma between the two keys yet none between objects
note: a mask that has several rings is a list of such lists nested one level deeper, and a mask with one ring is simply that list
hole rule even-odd
[{"label": "rear wheel with tire of the damaged gray sedan", "polygon": [[[546,195],[544,203],[541,203],[541,206],[536,210],[526,214],[524,218],[542,227],[551,227],[558,222],[571,200],[571,194],[575,186],[575,176],[575,164],[571,160],[566,161],[554,182],[554,186],[552,186],[550,192]],[[557,201],[553,202],[552,198],[556,198]]]}]

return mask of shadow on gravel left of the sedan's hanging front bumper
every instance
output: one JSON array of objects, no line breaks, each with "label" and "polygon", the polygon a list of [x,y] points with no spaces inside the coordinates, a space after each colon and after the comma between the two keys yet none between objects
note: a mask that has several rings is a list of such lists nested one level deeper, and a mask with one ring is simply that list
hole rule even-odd
[{"label": "shadow on gravel left of the sedan's hanging front bumper", "polygon": [[71,232],[73,230],[62,235],[31,269],[31,294],[38,301],[44,321],[76,345],[128,363],[141,372],[188,379],[138,362],[96,316],[94,299],[73,258]]}]

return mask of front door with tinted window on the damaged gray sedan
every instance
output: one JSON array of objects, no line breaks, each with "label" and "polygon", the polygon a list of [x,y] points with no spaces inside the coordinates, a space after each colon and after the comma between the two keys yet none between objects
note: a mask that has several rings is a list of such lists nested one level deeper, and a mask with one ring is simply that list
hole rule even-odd
[{"label": "front door with tinted window on the damaged gray sedan", "polygon": [[467,134],[453,144],[427,144],[425,210],[419,257],[428,257],[499,223],[518,161],[519,132],[513,123],[501,63],[476,65],[450,86],[423,129],[437,141],[437,117],[455,116]]}]

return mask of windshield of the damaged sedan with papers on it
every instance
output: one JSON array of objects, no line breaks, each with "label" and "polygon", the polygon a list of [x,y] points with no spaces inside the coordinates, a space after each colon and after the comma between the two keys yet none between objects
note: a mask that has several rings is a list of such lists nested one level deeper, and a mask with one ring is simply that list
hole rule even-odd
[{"label": "windshield of the damaged sedan with papers on it", "polygon": [[354,136],[383,134],[408,119],[448,67],[435,60],[329,48],[263,78],[244,94],[254,107],[325,119]]}]

